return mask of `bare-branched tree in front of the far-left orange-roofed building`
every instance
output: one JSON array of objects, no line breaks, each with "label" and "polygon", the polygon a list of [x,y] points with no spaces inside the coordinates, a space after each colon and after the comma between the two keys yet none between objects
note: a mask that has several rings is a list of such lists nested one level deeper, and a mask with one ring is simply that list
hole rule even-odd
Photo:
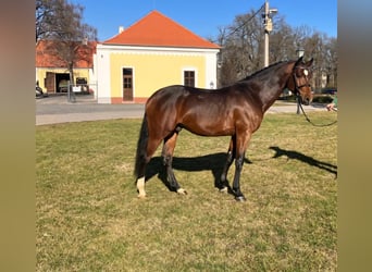
[{"label": "bare-branched tree in front of the far-left orange-roofed building", "polygon": [[[74,83],[74,66],[92,50],[97,29],[83,23],[84,7],[65,0],[36,0],[36,42],[49,40],[48,53],[64,62]],[[90,52],[92,53],[92,52]]]}]

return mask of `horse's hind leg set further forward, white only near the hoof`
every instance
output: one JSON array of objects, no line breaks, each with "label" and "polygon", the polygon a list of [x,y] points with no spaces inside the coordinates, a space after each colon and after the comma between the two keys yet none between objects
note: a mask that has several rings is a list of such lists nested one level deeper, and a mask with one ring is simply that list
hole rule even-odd
[{"label": "horse's hind leg set further forward, white only near the hoof", "polygon": [[174,132],[171,136],[164,139],[162,157],[166,170],[166,181],[169,182],[171,189],[177,191],[178,194],[186,195],[186,190],[181,188],[172,169],[173,151],[176,145],[177,136],[178,132]]}]

